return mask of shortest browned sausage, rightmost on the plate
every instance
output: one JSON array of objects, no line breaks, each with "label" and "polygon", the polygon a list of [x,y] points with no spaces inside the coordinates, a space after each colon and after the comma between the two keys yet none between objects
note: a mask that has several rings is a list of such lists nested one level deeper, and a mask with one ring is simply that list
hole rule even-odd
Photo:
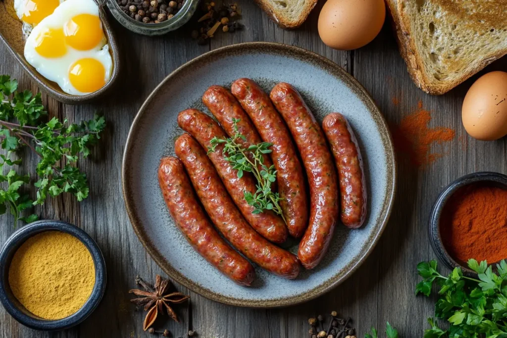
[{"label": "shortest browned sausage, rightmost on the plate", "polygon": [[366,182],[363,159],[350,125],[338,112],[322,121],[322,129],[331,145],[340,184],[340,216],[351,229],[359,228],[366,218]]}]

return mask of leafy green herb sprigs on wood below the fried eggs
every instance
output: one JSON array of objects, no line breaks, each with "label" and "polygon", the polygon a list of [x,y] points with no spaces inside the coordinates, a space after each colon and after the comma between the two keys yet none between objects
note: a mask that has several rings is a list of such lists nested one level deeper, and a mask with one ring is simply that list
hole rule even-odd
[{"label": "leafy green herb sprigs on wood below the fried eggs", "polygon": [[[0,155],[0,173],[5,164],[20,165],[22,160],[13,160],[12,154],[26,145],[40,157],[37,165],[39,180],[37,199],[30,200],[19,190],[30,182],[29,176],[21,176],[15,170],[0,175],[0,183],[7,182],[6,190],[0,187],[0,214],[9,208],[14,215],[14,224],[19,219],[29,223],[36,215],[22,217],[21,211],[36,204],[43,204],[47,196],[55,197],[62,192],[71,193],[78,201],[88,197],[88,181],[79,168],[73,166],[79,156],[87,157],[89,147],[97,142],[104,130],[103,117],[95,116],[80,124],[68,124],[67,119],[60,122],[52,118],[44,123],[47,115],[42,105],[41,94],[33,95],[28,90],[17,92],[18,83],[10,76],[0,76],[0,144],[7,155]],[[65,162],[65,165],[61,165]]]}]

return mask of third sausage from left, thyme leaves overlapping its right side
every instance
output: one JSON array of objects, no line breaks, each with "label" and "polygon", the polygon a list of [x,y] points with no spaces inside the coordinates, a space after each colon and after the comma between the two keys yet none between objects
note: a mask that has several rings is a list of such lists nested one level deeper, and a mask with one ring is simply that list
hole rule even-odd
[{"label": "third sausage from left, thyme leaves overlapping its right side", "polygon": [[[227,137],[218,123],[197,109],[187,109],[180,112],[178,125],[194,136],[205,149],[209,149],[211,146],[210,140],[213,137],[222,139]],[[255,208],[246,203],[244,192],[253,194],[257,191],[255,178],[248,173],[238,178],[237,171],[224,158],[223,149],[224,146],[220,143],[215,151],[210,152],[208,156],[216,171],[219,172],[220,178],[222,178],[227,191],[231,194],[234,203],[236,203],[252,228],[259,234],[271,242],[283,243],[287,239],[287,227],[285,227],[283,219],[270,210],[265,210],[259,214],[252,213]]]}]

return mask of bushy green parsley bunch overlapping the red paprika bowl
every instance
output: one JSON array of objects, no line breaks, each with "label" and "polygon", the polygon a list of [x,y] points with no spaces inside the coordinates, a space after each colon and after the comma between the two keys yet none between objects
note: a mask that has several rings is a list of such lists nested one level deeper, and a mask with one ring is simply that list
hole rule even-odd
[{"label": "bushy green parsley bunch overlapping the red paprika bowl", "polygon": [[431,328],[425,330],[424,338],[507,337],[507,263],[500,261],[497,273],[485,260],[479,264],[469,259],[467,264],[479,279],[463,276],[460,268],[445,277],[437,271],[436,260],[417,265],[423,280],[415,293],[429,296],[433,282],[437,282],[440,299],[435,305],[435,316],[450,323],[449,329],[443,330],[433,318],[428,318]]}]

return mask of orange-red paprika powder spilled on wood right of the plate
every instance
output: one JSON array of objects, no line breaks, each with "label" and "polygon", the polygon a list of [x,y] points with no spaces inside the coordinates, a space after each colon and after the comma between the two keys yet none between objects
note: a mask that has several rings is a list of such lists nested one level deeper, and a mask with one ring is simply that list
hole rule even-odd
[{"label": "orange-red paprika powder spilled on wood right of the plate", "polygon": [[416,167],[424,167],[441,158],[443,154],[430,153],[431,144],[451,141],[456,134],[450,128],[429,128],[430,121],[429,110],[423,109],[422,102],[419,101],[417,109],[411,115],[404,117],[399,125],[391,127],[396,151],[408,156]]}]

